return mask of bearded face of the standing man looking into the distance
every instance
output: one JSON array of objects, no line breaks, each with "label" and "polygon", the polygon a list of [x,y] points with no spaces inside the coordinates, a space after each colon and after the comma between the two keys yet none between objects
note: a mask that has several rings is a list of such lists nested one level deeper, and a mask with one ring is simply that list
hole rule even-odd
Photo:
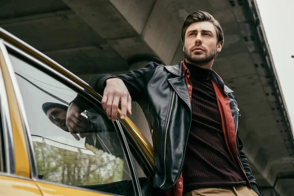
[{"label": "bearded face of the standing man looking into the distance", "polygon": [[207,21],[191,24],[185,33],[183,51],[188,63],[201,65],[212,61],[221,51],[215,26]]}]

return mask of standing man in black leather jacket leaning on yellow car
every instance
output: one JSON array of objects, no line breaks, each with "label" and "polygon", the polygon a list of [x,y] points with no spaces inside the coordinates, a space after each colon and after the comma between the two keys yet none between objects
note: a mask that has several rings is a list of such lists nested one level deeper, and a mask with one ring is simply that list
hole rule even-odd
[{"label": "standing man in black leather jacket leaning on yellow car", "polygon": [[[150,62],[145,68],[90,80],[109,119],[131,115],[131,100],[142,107],[153,129],[154,187],[180,196],[259,195],[238,137],[233,91],[211,68],[223,46],[221,25],[204,11],[190,14],[181,31],[185,59],[173,66]],[[81,109],[73,100],[70,132]],[[183,183],[184,182],[184,183]]]}]

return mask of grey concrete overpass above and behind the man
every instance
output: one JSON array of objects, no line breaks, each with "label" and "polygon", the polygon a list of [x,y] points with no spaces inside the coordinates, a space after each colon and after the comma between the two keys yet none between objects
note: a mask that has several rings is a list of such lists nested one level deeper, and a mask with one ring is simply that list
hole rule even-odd
[{"label": "grey concrete overpass above and behind the man", "polygon": [[[87,81],[151,60],[178,63],[181,25],[198,9],[224,29],[214,70],[235,91],[261,194],[294,195],[292,129],[254,0],[2,0],[0,26]],[[142,114],[132,118],[146,130]]]}]

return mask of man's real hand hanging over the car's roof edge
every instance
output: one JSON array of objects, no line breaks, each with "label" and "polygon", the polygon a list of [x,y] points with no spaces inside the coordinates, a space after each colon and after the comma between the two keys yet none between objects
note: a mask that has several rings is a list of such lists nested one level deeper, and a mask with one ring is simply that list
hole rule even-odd
[{"label": "man's real hand hanging over the car's roof edge", "polygon": [[131,115],[131,96],[119,78],[110,78],[106,80],[102,98],[102,107],[105,110],[108,119],[116,121],[119,103],[121,102],[121,119],[124,119],[126,114]]}]

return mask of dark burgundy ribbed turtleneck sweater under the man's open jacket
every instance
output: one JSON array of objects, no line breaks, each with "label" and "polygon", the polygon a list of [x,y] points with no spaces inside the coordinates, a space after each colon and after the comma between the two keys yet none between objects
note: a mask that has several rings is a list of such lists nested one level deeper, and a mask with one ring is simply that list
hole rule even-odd
[{"label": "dark burgundy ribbed turtleneck sweater under the man's open jacket", "polygon": [[245,185],[242,171],[230,158],[211,70],[185,63],[192,83],[192,123],[183,166],[184,193],[200,188]]}]

